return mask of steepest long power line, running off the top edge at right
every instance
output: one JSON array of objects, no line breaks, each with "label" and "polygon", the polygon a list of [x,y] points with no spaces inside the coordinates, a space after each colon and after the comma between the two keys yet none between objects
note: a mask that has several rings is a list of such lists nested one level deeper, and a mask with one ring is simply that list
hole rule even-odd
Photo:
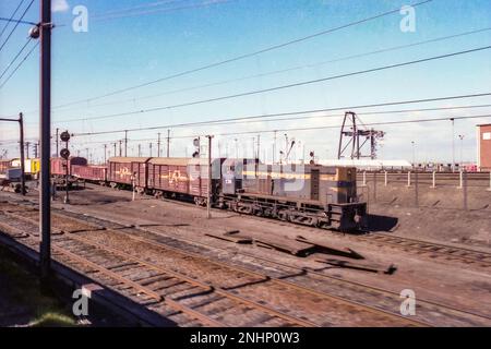
[{"label": "steepest long power line, running off the top edge at right", "polygon": [[[420,1],[420,2],[411,4],[411,7],[414,7],[414,8],[415,7],[419,7],[419,5],[422,5],[422,4],[432,2],[432,1],[433,0]],[[207,69],[211,69],[211,68],[215,68],[215,67],[228,64],[228,63],[231,63],[231,62],[235,62],[235,61],[243,60],[246,58],[255,57],[255,56],[259,56],[259,55],[262,55],[262,53],[265,53],[265,52],[270,52],[270,51],[273,51],[273,50],[276,50],[276,49],[279,49],[279,48],[284,48],[284,47],[287,47],[287,46],[290,46],[290,45],[302,43],[302,41],[306,41],[306,40],[309,40],[309,39],[312,39],[312,38],[315,38],[315,37],[319,37],[319,36],[327,35],[327,34],[331,34],[331,33],[334,33],[334,32],[338,32],[338,31],[351,27],[351,26],[356,26],[356,25],[359,25],[359,24],[362,24],[362,23],[367,23],[367,22],[370,22],[370,21],[373,21],[373,20],[378,20],[378,19],[381,19],[381,17],[386,16],[386,15],[391,15],[391,14],[394,14],[394,13],[399,13],[399,11],[400,11],[400,9],[391,10],[391,11],[387,11],[387,12],[384,12],[384,13],[380,13],[380,14],[376,14],[376,15],[373,15],[373,16],[370,16],[370,17],[367,17],[367,19],[363,19],[363,20],[355,21],[355,22],[351,22],[351,23],[348,23],[348,24],[345,24],[345,25],[342,25],[342,26],[337,26],[337,27],[334,27],[334,28],[330,28],[330,29],[326,29],[326,31],[314,33],[314,34],[311,34],[311,35],[308,35],[308,36],[304,36],[304,37],[301,37],[301,38],[297,38],[297,39],[290,40],[290,41],[286,41],[286,43],[274,45],[274,46],[270,46],[270,47],[266,47],[264,49],[261,49],[261,50],[258,50],[258,51],[254,51],[254,52],[249,52],[249,53],[244,53],[244,55],[241,55],[241,56],[229,58],[229,59],[226,59],[226,60],[223,60],[223,61],[219,61],[219,62],[202,65],[200,68],[187,70],[187,71],[183,71],[183,72],[180,72],[180,73],[176,73],[176,74],[171,74],[171,75],[168,75],[168,76],[165,76],[165,77],[160,77],[160,79],[157,79],[157,80],[153,80],[153,81],[149,81],[149,82],[146,82],[146,83],[143,83],[143,84],[139,84],[139,85],[134,85],[134,86],[117,89],[117,91],[113,91],[111,93],[107,93],[107,94],[104,94],[104,95],[100,95],[100,96],[95,96],[95,97],[91,97],[91,98],[85,98],[85,99],[71,101],[71,103],[61,105],[59,107],[65,107],[65,106],[71,106],[71,105],[76,105],[76,104],[81,104],[81,103],[87,103],[87,101],[92,101],[92,100],[106,98],[106,97],[118,95],[118,94],[121,94],[121,93],[124,93],[124,92],[129,92],[129,91],[137,89],[137,88],[141,88],[141,87],[149,86],[149,85],[153,85],[153,84],[156,84],[156,83],[160,83],[160,82],[164,82],[164,81],[167,81],[167,80],[171,80],[171,79],[189,75],[189,74],[196,73],[196,72],[200,72],[200,71],[203,71],[203,70],[207,70]]]}]

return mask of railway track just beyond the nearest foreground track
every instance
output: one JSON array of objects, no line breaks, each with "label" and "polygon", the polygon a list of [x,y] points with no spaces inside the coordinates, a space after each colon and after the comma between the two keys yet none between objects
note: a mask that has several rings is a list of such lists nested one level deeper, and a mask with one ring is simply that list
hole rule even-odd
[{"label": "railway track just beyond the nearest foreground track", "polygon": [[[98,219],[95,217],[86,217],[80,214],[74,213],[62,213],[64,216],[70,216],[74,218],[79,224],[80,218],[83,218],[86,221],[91,221],[96,230],[100,230],[101,226],[112,226],[116,228],[118,225],[108,222],[107,220]],[[82,217],[81,217],[82,216]],[[92,232],[91,232],[92,233]],[[108,231],[105,231],[108,233]],[[239,268],[237,266],[230,265],[230,261],[227,263],[219,261],[211,261],[209,258],[204,258],[204,255],[214,255],[216,256],[216,251],[212,251],[211,249],[217,250],[215,245],[206,245],[204,243],[200,243],[201,246],[208,246],[209,249],[196,249],[194,241],[182,241],[181,238],[176,240],[171,237],[166,237],[163,239],[161,236],[157,236],[153,232],[148,232],[142,229],[135,228],[124,228],[119,227],[115,233],[123,234],[124,238],[133,239],[141,244],[145,244],[147,248],[152,246],[152,249],[156,249],[156,251],[164,252],[166,255],[178,253],[182,257],[183,252],[185,253],[185,257],[194,258],[192,261],[194,266],[196,265],[214,265],[214,274],[224,273],[225,269],[230,269],[233,267],[238,273],[243,276],[252,277],[250,280],[246,280],[246,282],[252,282],[252,285],[263,285],[263,284],[273,284],[279,288],[288,287],[297,292],[303,292],[310,297],[323,297],[326,296],[330,299],[334,299],[337,301],[344,302],[345,299],[349,299],[351,304],[356,306],[368,308],[370,312],[373,311],[373,306],[367,306],[367,303],[376,303],[376,311],[382,311],[385,314],[391,314],[391,311],[398,311],[398,306],[400,305],[400,298],[398,293],[391,292],[387,290],[373,288],[363,284],[347,281],[344,279],[339,279],[333,276],[327,276],[322,273],[318,273],[314,270],[306,270],[301,268],[295,268],[291,265],[283,265],[277,262],[273,262],[265,258],[260,258],[253,255],[249,255],[251,258],[256,260],[256,265],[261,265],[261,267],[255,268],[255,270],[251,270],[251,265],[241,265]],[[80,239],[80,237],[77,237]],[[164,241],[163,241],[164,240]],[[97,242],[100,243],[100,242]],[[193,243],[193,244],[191,244]],[[107,245],[107,241],[104,241],[104,245]],[[164,246],[165,245],[165,246]],[[100,246],[100,245],[99,245]],[[172,248],[170,248],[172,246]],[[147,250],[147,249],[146,249]],[[200,252],[200,255],[195,253],[189,253],[192,250]],[[219,249],[218,249],[219,250]],[[119,251],[119,250],[118,250]],[[225,250],[223,250],[225,252]],[[161,254],[161,253],[160,253]],[[243,254],[241,252],[241,254]],[[177,258],[173,254],[172,258]],[[237,263],[235,263],[237,264]],[[192,269],[192,268],[191,268]],[[221,269],[221,270],[219,270]],[[274,270],[271,273],[264,273],[264,270]],[[219,272],[219,273],[218,273]],[[230,272],[230,270],[229,270]],[[219,282],[223,280],[225,276],[223,275],[218,280],[208,280],[213,282]],[[254,280],[255,278],[255,280]],[[259,284],[254,284],[259,282]],[[241,285],[243,285],[242,282]],[[207,284],[208,285],[208,284]],[[230,285],[228,286],[230,287]],[[231,286],[233,289],[233,285]],[[271,285],[268,285],[268,289],[266,291],[272,291]],[[280,291],[280,290],[275,290]],[[392,313],[393,314],[393,313]],[[415,317],[418,321],[415,325],[429,325],[429,324],[438,324],[438,325],[458,325],[458,326],[479,326],[479,325],[489,325],[491,323],[491,318],[481,315],[475,314],[472,312],[467,312],[465,310],[456,309],[448,305],[438,304],[434,302],[428,301],[418,301],[418,315]],[[336,323],[338,324],[338,323]],[[333,324],[321,324],[324,326],[333,325]]]}]

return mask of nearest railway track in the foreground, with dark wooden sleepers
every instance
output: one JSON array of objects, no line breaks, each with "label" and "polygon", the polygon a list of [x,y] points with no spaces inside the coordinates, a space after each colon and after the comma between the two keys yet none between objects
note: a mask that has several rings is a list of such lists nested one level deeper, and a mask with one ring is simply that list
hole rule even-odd
[{"label": "nearest railway track in the foreground, with dark wooden sleepers", "polygon": [[[27,216],[24,216],[26,213]],[[3,214],[11,218],[10,221],[28,224],[35,231],[37,221],[29,215],[37,213],[33,210],[26,213],[3,210]],[[64,217],[64,220],[70,219],[73,218]],[[59,229],[56,221],[57,218],[53,227]],[[80,222],[75,221],[75,226],[79,225]],[[17,234],[22,231],[19,228],[14,229],[17,229]],[[9,228],[3,227],[3,230]],[[105,282],[116,280],[119,282],[116,286],[123,285],[124,288],[132,288],[133,292],[130,296],[134,297],[134,291],[139,291],[140,293],[136,294],[145,294],[145,301],[152,299],[157,303],[164,302],[177,311],[202,321],[205,325],[427,325],[423,322],[300,287],[279,278],[271,278],[264,274],[212,262],[196,254],[134,238],[130,233],[121,234],[121,231],[100,230],[98,227],[84,232],[80,231],[79,227],[75,230],[76,232],[62,233],[61,231],[53,239],[53,249],[62,254],[62,260],[68,257],[76,264],[96,269],[97,273],[109,278],[109,280],[105,279]],[[133,243],[128,243],[131,239]],[[139,255],[145,255],[144,260]],[[165,261],[161,258],[157,261],[157,255],[165,255]],[[175,265],[171,266],[171,263]],[[85,274],[91,274],[89,272],[85,269]],[[181,287],[177,291],[169,291],[168,287],[164,290],[155,288],[155,284],[158,285],[161,278],[175,280],[176,285],[172,284],[171,287]],[[205,305],[201,305],[203,303]],[[196,311],[196,304],[200,305],[200,310],[201,306],[206,306],[207,312]],[[225,315],[216,310],[217,306],[225,308],[223,311]]]}]

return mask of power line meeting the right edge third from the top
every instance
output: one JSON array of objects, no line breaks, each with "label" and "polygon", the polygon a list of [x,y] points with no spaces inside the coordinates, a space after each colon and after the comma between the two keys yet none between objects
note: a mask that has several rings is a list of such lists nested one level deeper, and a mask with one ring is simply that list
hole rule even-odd
[{"label": "power line meeting the right edge third from the top", "polygon": [[124,131],[135,132],[135,131],[152,131],[152,130],[161,130],[161,129],[175,129],[175,128],[191,127],[191,125],[202,125],[202,124],[219,124],[220,122],[237,122],[237,121],[248,121],[248,120],[258,120],[258,119],[268,119],[268,118],[274,118],[274,117],[300,116],[300,115],[328,112],[328,111],[339,111],[339,110],[356,110],[356,109],[367,109],[367,108],[378,108],[378,107],[391,107],[391,106],[399,106],[399,105],[412,105],[412,104],[421,104],[421,103],[430,103],[430,101],[467,99],[467,98],[478,98],[478,97],[487,97],[487,96],[491,96],[491,92],[490,93],[481,93],[481,94],[469,94],[469,95],[457,95],[457,96],[445,96],[445,97],[436,97],[436,98],[426,98],[426,99],[410,99],[410,100],[399,100],[399,101],[387,101],[387,103],[379,103],[379,104],[371,104],[371,105],[343,106],[343,107],[335,107],[335,108],[310,109],[310,110],[298,110],[298,111],[290,111],[290,112],[266,113],[266,115],[256,115],[256,116],[249,116],[249,117],[229,118],[229,119],[220,119],[220,120],[208,120],[208,121],[200,121],[200,122],[179,123],[179,124],[166,124],[166,125],[159,125],[159,127],[148,127],[148,128],[137,128],[137,129],[128,129],[127,128],[125,130],[87,132],[87,133],[77,133],[75,135],[76,136],[87,136],[87,135],[98,135],[98,134],[122,133]]}]

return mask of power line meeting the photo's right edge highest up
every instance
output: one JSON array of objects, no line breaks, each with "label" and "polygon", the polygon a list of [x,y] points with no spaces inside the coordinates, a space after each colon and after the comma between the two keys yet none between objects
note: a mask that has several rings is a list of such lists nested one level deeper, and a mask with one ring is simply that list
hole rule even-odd
[{"label": "power line meeting the photo's right edge highest up", "polygon": [[[356,58],[362,58],[362,57],[373,56],[373,55],[378,55],[378,53],[395,51],[395,50],[399,50],[399,49],[404,49],[404,48],[409,48],[409,47],[415,47],[415,46],[420,46],[420,45],[426,45],[426,44],[432,44],[432,43],[436,43],[436,41],[447,40],[447,39],[452,39],[452,38],[456,38],[456,37],[462,37],[462,36],[467,36],[467,35],[489,32],[489,31],[491,31],[491,27],[453,34],[450,36],[438,37],[438,38],[423,40],[423,41],[419,41],[419,43],[414,43],[414,44],[408,44],[408,45],[390,47],[390,48],[380,49],[380,50],[375,50],[375,51],[371,51],[371,52],[340,57],[337,59],[312,63],[312,64],[297,65],[297,67],[271,71],[271,72],[266,72],[266,73],[262,73],[262,74],[253,74],[253,75],[242,76],[242,77],[238,77],[238,79],[231,79],[231,80],[225,80],[225,81],[215,82],[215,83],[208,83],[208,84],[204,84],[204,85],[197,85],[197,86],[191,86],[191,87],[185,87],[185,88],[180,88],[180,89],[175,89],[175,91],[168,91],[165,93],[154,94],[154,95],[139,97],[139,98],[120,99],[120,100],[116,100],[116,101],[92,105],[92,106],[87,106],[87,107],[88,108],[106,107],[106,106],[120,105],[122,103],[129,103],[129,101],[134,101],[134,100],[151,99],[151,98],[155,98],[155,97],[161,97],[161,96],[172,95],[172,94],[182,93],[182,92],[189,92],[189,91],[195,91],[195,89],[201,89],[201,88],[225,85],[225,84],[240,82],[240,81],[250,80],[250,79],[264,77],[264,76],[270,76],[270,75],[275,75],[275,74],[280,74],[280,73],[287,73],[287,72],[291,72],[291,71],[296,71],[296,70],[306,69],[306,68],[315,68],[315,67],[325,65],[328,63],[342,62],[342,61],[351,60],[351,59],[356,59]],[[53,109],[60,109],[60,108],[53,108]],[[80,107],[64,109],[63,111],[75,110],[75,109],[79,110]]]}]

